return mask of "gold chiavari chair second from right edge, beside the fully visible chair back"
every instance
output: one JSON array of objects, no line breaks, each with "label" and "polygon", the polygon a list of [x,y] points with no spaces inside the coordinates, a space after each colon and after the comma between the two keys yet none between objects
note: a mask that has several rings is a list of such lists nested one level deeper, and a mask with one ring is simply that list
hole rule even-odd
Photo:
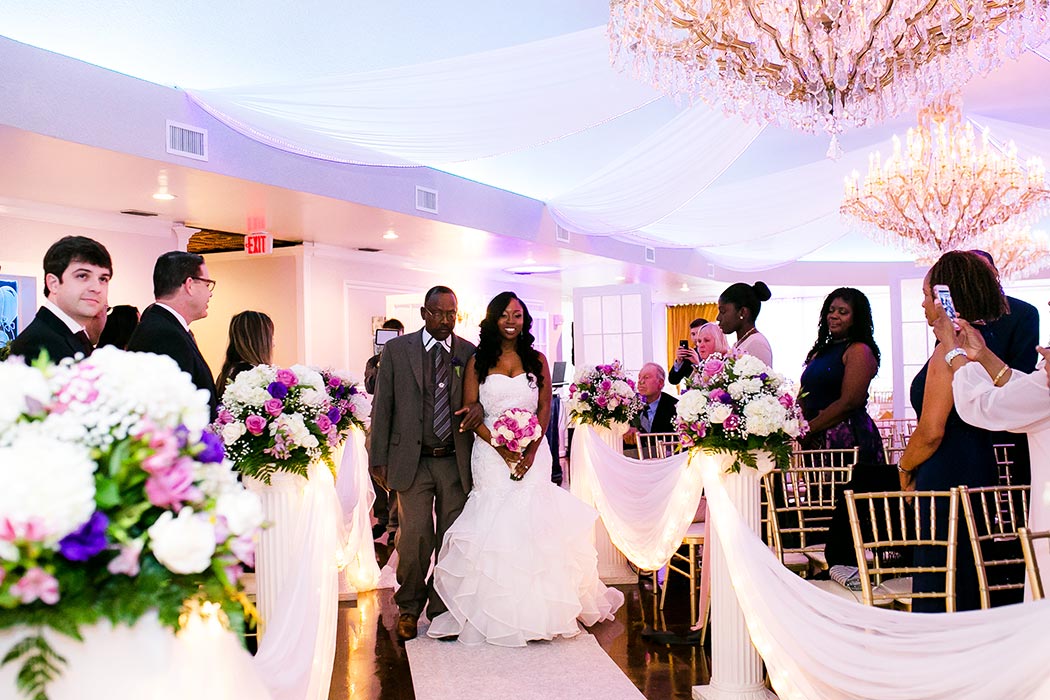
[{"label": "gold chiavari chair second from right edge, beside the fully visible chair back", "polygon": [[1027,486],[959,487],[982,608],[991,608],[992,593],[1025,589],[1017,530],[1028,525],[1028,491]]}]

